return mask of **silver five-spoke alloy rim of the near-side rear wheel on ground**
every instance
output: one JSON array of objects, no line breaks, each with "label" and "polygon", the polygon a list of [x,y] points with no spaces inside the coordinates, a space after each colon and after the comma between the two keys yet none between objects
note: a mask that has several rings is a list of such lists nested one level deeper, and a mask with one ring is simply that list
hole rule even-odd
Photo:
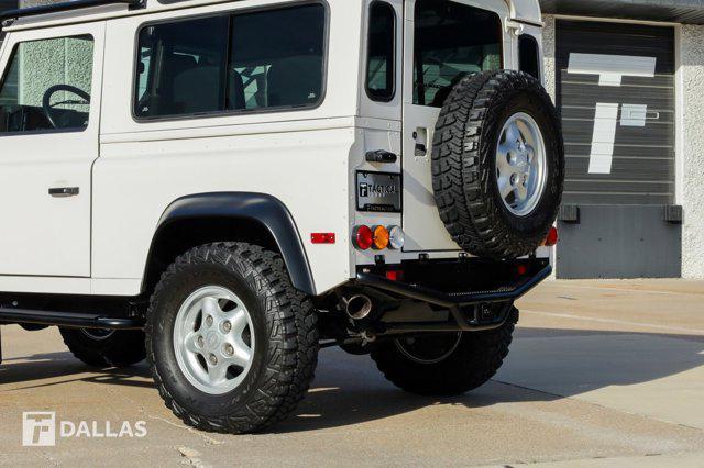
[{"label": "silver five-spoke alloy rim of the near-side rear wheel on ground", "polygon": [[220,286],[195,291],[176,315],[174,350],[178,367],[198,390],[234,390],[254,359],[254,326],[244,302]]}]

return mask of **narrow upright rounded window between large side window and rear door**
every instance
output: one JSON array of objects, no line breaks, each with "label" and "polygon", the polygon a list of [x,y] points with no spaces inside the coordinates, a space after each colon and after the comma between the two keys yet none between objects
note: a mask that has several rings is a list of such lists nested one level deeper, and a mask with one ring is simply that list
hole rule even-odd
[{"label": "narrow upright rounded window between large side window and rear door", "polygon": [[396,93],[396,12],[375,1],[370,8],[366,92],[374,101],[388,102]]}]

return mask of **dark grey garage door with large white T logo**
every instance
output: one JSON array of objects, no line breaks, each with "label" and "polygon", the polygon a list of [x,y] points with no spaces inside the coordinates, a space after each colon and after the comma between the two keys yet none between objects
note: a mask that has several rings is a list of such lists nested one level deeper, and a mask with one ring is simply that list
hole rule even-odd
[{"label": "dark grey garage door with large white T logo", "polygon": [[679,277],[674,30],[557,22],[561,278]]}]

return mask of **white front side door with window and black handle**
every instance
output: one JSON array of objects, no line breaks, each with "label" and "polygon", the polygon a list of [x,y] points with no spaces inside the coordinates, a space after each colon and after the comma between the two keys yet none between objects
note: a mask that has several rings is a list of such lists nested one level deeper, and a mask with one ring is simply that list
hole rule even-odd
[{"label": "white front side door with window and black handle", "polygon": [[90,276],[105,23],[6,36],[0,275]]}]

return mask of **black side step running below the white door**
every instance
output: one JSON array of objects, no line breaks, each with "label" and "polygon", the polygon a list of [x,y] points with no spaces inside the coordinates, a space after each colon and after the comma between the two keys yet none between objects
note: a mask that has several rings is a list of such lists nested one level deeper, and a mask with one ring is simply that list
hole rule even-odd
[{"label": "black side step running below the white door", "polygon": [[138,317],[116,319],[90,313],[10,308],[0,308],[0,322],[57,325],[70,328],[141,330],[144,327],[144,322]]}]

